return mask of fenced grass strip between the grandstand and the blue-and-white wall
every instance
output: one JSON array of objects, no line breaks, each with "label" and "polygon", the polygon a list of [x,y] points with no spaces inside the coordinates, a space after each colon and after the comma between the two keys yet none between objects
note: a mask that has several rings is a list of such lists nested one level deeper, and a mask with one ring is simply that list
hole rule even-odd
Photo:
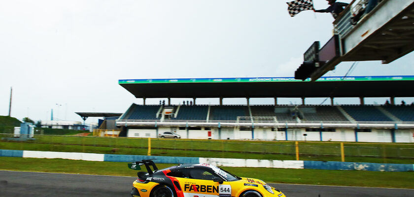
[{"label": "fenced grass strip between the grandstand and the blue-and-white wall", "polygon": [[[0,135],[5,137],[6,135]],[[2,140],[0,149],[146,155],[147,138],[36,135],[36,140]],[[151,139],[156,156],[295,160],[292,141]],[[116,151],[113,151],[116,149]],[[339,142],[299,142],[300,160],[341,161]],[[414,164],[414,144],[345,143],[346,162]]]}]

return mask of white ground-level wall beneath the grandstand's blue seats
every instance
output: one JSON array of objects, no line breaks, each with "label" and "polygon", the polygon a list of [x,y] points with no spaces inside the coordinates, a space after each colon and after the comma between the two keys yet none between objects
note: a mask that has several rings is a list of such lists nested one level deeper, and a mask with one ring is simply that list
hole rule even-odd
[{"label": "white ground-level wall beneath the grandstand's blue seats", "polygon": [[[178,127],[160,127],[158,133],[166,131],[174,132],[181,135],[181,138],[190,139],[208,139],[208,131],[211,131],[211,139],[219,139],[218,128],[211,130],[191,130],[189,127],[188,135],[186,130],[179,130]],[[157,137],[156,130],[137,130],[129,129],[128,137]],[[307,134],[304,136],[303,134]],[[392,142],[392,132],[390,129],[373,129],[371,132],[358,132],[359,142]],[[395,131],[395,142],[414,142],[414,130],[397,130]],[[252,139],[251,131],[240,131],[237,127],[222,127],[221,139]],[[254,139],[266,140],[286,140],[285,131],[272,131],[271,128],[254,128]],[[318,131],[306,131],[303,128],[288,129],[287,139],[289,141],[320,141]],[[335,132],[322,132],[323,141],[355,141],[355,130],[353,128],[338,128]]]}]

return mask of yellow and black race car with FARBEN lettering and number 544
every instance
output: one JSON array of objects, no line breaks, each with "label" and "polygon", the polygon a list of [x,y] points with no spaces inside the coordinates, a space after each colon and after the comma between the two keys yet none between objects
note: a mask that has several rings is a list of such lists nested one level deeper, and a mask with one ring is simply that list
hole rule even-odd
[{"label": "yellow and black race car with FARBEN lettering and number 544", "polygon": [[138,172],[132,197],[285,197],[262,180],[238,177],[211,164],[178,164],[160,170],[152,160],[128,164],[136,170],[140,165],[147,172]]}]

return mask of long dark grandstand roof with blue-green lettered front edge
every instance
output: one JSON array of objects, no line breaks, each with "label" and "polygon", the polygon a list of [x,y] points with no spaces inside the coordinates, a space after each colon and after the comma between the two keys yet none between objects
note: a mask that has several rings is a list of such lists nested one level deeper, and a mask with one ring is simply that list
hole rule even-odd
[{"label": "long dark grandstand roof with blue-green lettered front edge", "polygon": [[119,80],[136,98],[414,97],[414,76],[185,78]]}]

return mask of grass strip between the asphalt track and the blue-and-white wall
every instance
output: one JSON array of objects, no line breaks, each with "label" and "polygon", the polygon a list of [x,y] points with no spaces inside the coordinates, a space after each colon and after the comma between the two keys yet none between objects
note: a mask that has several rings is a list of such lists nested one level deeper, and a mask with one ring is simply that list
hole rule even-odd
[{"label": "grass strip between the asphalt track and the blue-and-white wall", "polygon": [[[164,168],[173,164],[157,164]],[[63,159],[0,158],[1,170],[59,172],[117,176],[136,176],[127,163],[89,162]],[[373,172],[354,170],[315,170],[223,167],[241,177],[262,179],[268,183],[339,185],[414,189],[414,172]]]}]

